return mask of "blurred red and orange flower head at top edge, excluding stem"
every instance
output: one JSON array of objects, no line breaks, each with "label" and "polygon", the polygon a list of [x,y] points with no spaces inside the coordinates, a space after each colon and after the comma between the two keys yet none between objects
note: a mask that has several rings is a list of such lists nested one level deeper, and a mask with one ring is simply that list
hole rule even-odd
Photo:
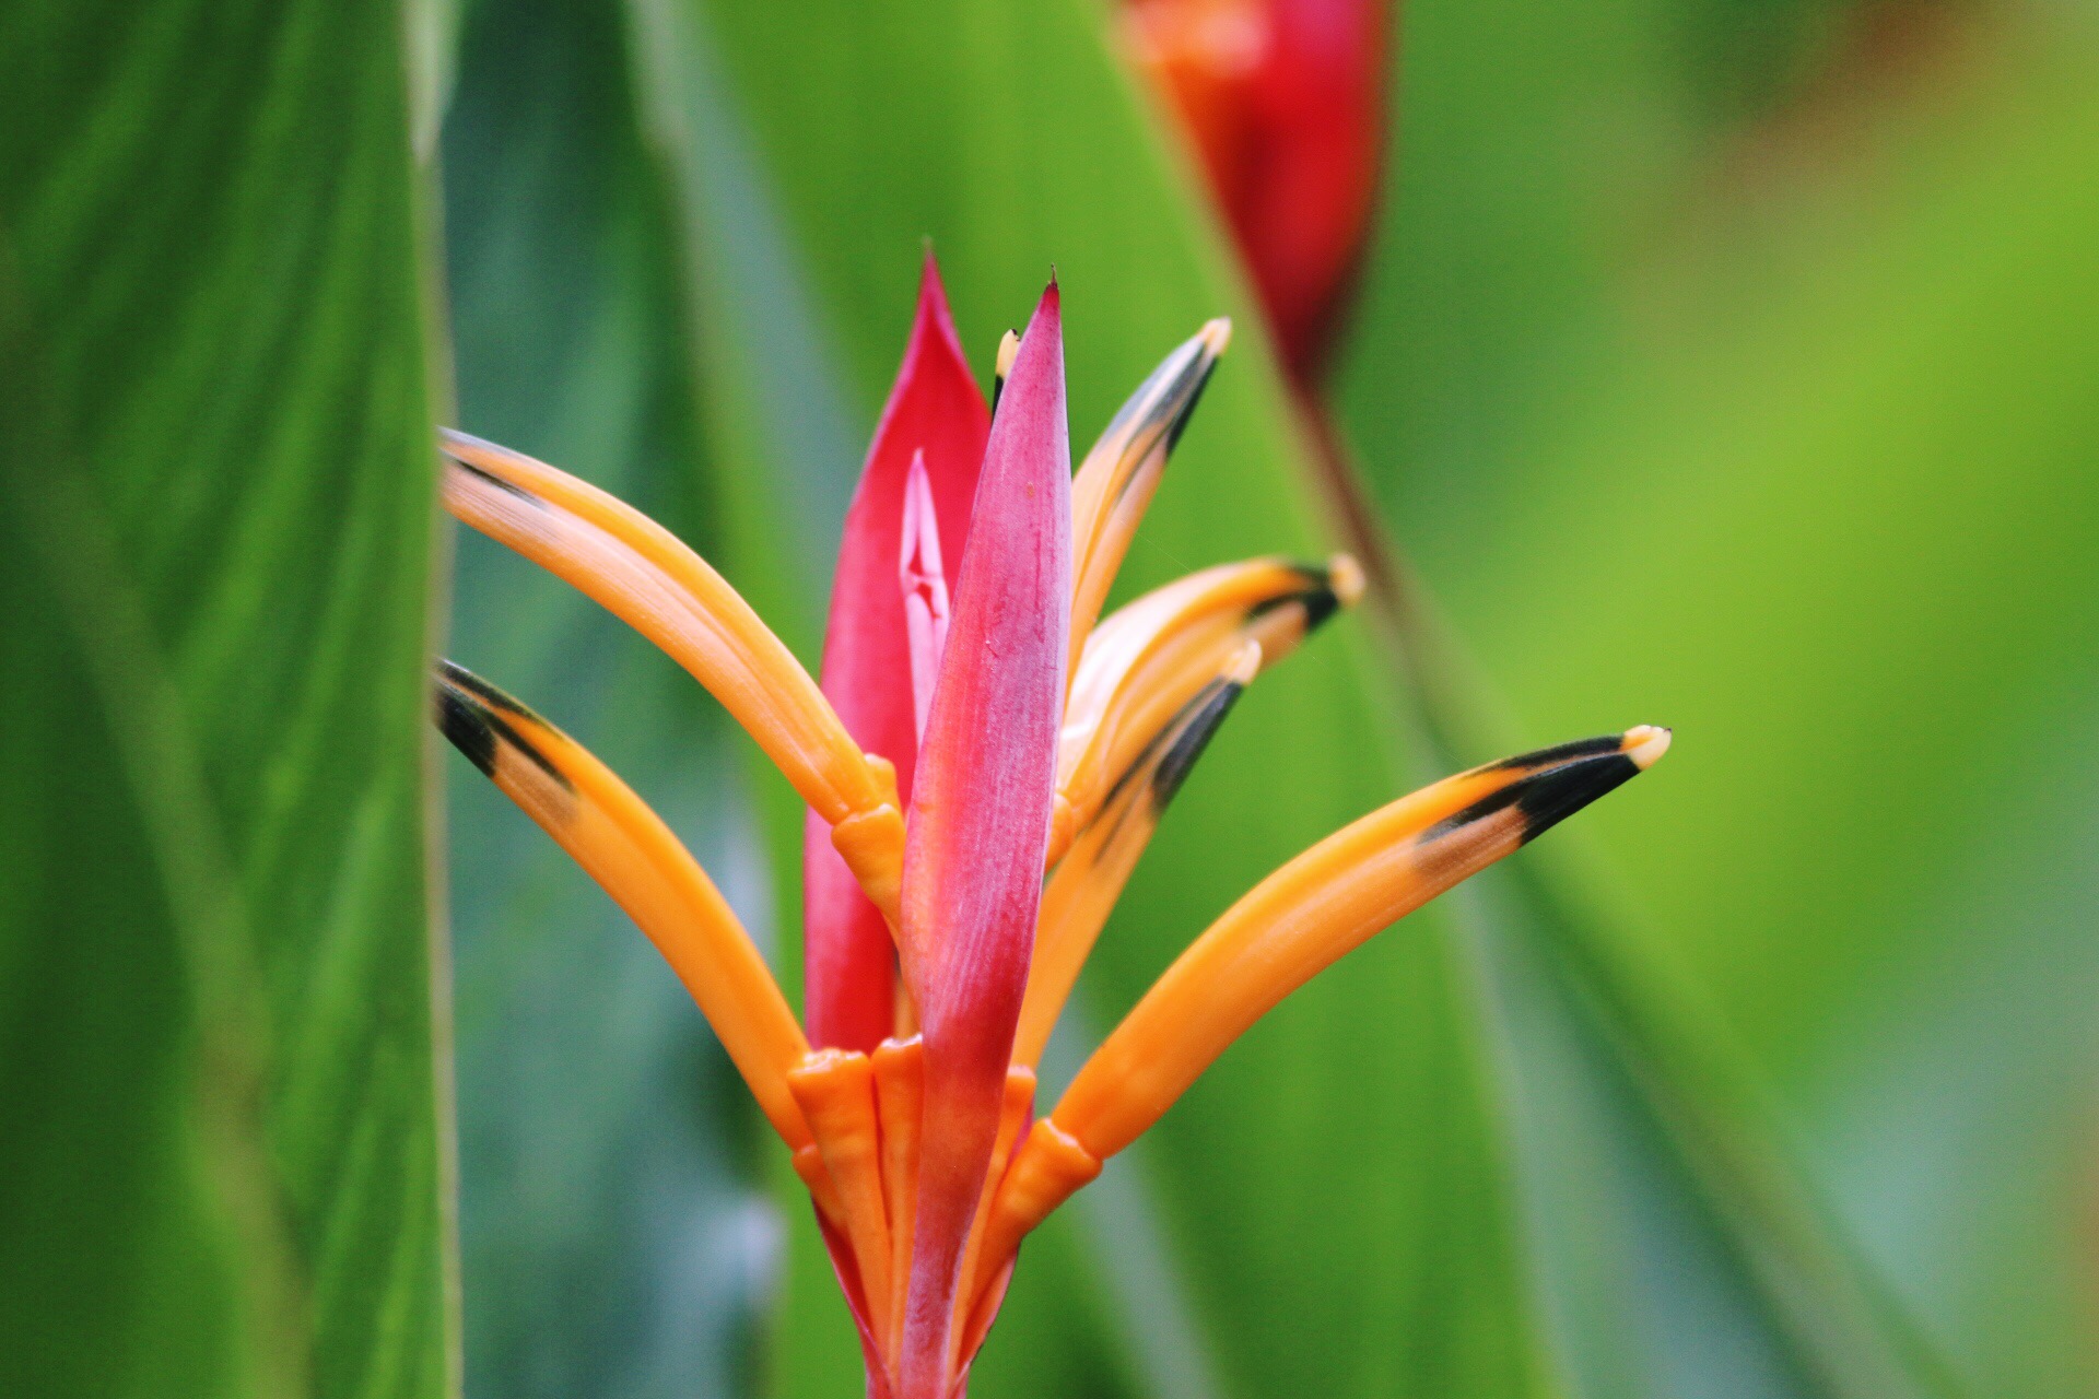
[{"label": "blurred red and orange flower head at top edge, excluding stem", "polygon": [[1385,0],[1125,0],[1299,384],[1327,365],[1383,157]]}]

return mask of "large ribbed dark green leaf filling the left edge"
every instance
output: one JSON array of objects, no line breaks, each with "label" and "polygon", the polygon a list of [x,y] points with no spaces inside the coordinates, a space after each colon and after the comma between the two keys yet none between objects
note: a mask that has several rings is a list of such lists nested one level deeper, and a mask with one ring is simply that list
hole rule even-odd
[{"label": "large ribbed dark green leaf filling the left edge", "polygon": [[0,1353],[451,1391],[399,17],[0,19]]}]

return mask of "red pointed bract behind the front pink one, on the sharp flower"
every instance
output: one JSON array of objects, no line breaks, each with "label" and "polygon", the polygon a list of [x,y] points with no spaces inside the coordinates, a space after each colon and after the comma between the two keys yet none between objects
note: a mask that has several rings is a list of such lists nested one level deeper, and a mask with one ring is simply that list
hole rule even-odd
[{"label": "red pointed bract behind the front pink one, on the sharp flower", "polygon": [[[907,810],[917,722],[905,602],[896,587],[905,480],[911,459],[924,453],[942,554],[961,558],[989,430],[991,411],[961,357],[940,273],[928,254],[905,363],[846,512],[823,638],[823,692],[854,742],[896,763]],[[808,1038],[819,1049],[873,1051],[892,1028],[890,931],[831,847],[831,828],[814,818],[804,839],[802,894]]]}]

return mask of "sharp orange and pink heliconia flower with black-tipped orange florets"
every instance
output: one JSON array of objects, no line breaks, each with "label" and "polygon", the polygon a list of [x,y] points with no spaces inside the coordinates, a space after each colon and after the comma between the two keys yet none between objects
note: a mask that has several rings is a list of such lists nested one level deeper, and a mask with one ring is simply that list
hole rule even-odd
[{"label": "sharp orange and pink heliconia flower with black-tipped orange florets", "polygon": [[1234,904],[1047,1116],[1035,1066],[1165,805],[1241,690],[1362,591],[1220,564],[1100,617],[1226,348],[1205,325],[1077,476],[1056,283],[987,409],[928,258],[846,516],[819,686],[667,531],[445,434],[445,505],[684,665],[810,810],[796,1019],[670,828],[552,724],[441,663],[443,732],[657,944],[808,1185],[875,1399],[959,1399],[1022,1237],[1322,967],[1669,747],[1635,728],[1404,797]]}]

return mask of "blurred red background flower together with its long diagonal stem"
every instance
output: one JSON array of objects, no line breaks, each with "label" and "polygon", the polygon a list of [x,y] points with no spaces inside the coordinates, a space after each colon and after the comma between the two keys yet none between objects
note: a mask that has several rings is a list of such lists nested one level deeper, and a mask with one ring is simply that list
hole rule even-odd
[{"label": "blurred red background flower together with its long diagonal stem", "polygon": [[[1366,577],[1362,615],[1394,669],[1411,757],[1448,770],[1507,747],[1513,726],[1385,531],[1329,401],[1377,216],[1394,19],[1383,0],[1125,0],[1121,34],[1180,120],[1261,302],[1329,524]],[[1522,940],[1566,984],[1818,1393],[1950,1393],[1835,1229],[1740,1055],[1679,1009],[1702,1000],[1667,986],[1667,967],[1564,883],[1501,870],[1461,904],[1471,940]]]}]

